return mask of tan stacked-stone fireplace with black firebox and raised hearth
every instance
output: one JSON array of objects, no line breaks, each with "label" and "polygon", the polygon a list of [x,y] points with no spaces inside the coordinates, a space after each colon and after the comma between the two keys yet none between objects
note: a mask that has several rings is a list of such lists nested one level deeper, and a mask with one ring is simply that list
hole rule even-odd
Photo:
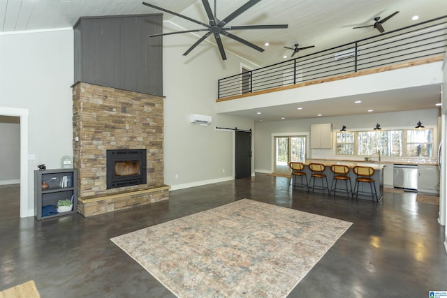
[{"label": "tan stacked-stone fireplace with black firebox and raised hearth", "polygon": [[73,140],[82,215],[168,200],[163,97],[78,82],[73,85]]}]

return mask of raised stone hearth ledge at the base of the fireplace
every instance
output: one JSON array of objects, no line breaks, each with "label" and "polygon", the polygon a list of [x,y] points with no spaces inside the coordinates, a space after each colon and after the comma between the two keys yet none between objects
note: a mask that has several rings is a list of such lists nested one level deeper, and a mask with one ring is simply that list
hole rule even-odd
[{"label": "raised stone hearth ledge at the base of the fireplace", "polygon": [[169,199],[170,186],[163,185],[138,191],[124,191],[112,195],[100,195],[78,199],[78,212],[85,217],[111,211],[152,204]]}]

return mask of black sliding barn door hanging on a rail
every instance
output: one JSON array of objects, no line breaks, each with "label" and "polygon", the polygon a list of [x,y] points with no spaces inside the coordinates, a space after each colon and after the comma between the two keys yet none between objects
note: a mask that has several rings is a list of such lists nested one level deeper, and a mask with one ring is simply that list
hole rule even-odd
[{"label": "black sliding barn door hanging on a rail", "polygon": [[251,132],[236,131],[235,179],[251,177]]}]

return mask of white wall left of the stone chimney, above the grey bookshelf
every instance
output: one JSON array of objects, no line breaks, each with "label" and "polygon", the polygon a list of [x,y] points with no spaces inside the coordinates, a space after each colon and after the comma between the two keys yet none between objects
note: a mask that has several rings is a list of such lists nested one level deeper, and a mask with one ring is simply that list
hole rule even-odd
[{"label": "white wall left of the stone chimney, above the grey bookshelf", "polygon": [[73,30],[0,35],[0,107],[29,110],[28,215],[34,215],[34,170],[73,156]]}]

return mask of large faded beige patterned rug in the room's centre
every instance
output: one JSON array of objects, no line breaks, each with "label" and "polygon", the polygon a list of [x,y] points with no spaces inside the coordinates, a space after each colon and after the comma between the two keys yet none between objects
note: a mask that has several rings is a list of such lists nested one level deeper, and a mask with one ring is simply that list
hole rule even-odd
[{"label": "large faded beige patterned rug in the room's centre", "polygon": [[351,224],[243,199],[111,240],[177,297],[286,297]]}]

